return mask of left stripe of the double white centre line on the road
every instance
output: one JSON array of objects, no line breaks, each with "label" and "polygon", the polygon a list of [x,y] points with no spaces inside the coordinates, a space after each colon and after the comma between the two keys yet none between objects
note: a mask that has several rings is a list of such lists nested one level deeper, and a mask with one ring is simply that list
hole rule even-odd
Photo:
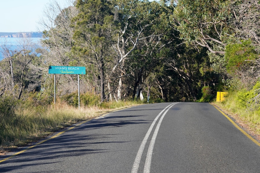
[{"label": "left stripe of the double white centre line on the road", "polygon": [[157,119],[158,119],[158,118],[160,117],[160,115],[164,112],[164,110],[166,110],[166,109],[167,109],[168,107],[170,107],[170,106],[173,106],[174,104],[176,104],[176,103],[172,103],[172,104],[168,105],[168,106],[167,106],[166,108],[164,108],[164,109],[156,116],[156,118],[154,119],[153,123],[151,124],[150,128],[148,129],[148,131],[147,131],[147,133],[146,133],[146,135],[145,135],[145,137],[144,137],[144,139],[143,139],[143,141],[142,141],[142,143],[141,143],[141,145],[140,145],[140,147],[139,147],[139,150],[138,150],[137,155],[136,155],[136,157],[135,157],[135,162],[134,162],[134,164],[133,164],[131,173],[137,173],[137,172],[138,172],[138,168],[139,168],[140,160],[141,160],[141,157],[142,157],[142,154],[143,154],[143,151],[144,151],[145,144],[146,144],[146,142],[147,142],[148,137],[149,137],[150,134],[151,134],[151,131],[152,131],[152,129],[153,129],[153,127],[154,127],[154,124],[156,123]]}]

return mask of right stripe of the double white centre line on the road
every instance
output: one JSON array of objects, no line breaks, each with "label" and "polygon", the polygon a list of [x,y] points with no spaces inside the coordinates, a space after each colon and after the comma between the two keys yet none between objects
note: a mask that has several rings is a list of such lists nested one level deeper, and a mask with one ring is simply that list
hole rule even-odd
[{"label": "right stripe of the double white centre line on the road", "polygon": [[163,121],[163,118],[165,116],[165,114],[171,109],[171,107],[173,107],[173,105],[175,105],[177,103],[172,104],[161,116],[155,130],[154,130],[154,134],[153,137],[151,139],[148,151],[147,151],[147,155],[146,155],[146,160],[145,160],[145,164],[144,164],[144,173],[150,173],[150,168],[151,168],[151,161],[152,161],[152,155],[153,155],[153,150],[154,150],[154,143],[155,143],[155,139],[157,137],[159,128],[161,126],[161,123]]}]

